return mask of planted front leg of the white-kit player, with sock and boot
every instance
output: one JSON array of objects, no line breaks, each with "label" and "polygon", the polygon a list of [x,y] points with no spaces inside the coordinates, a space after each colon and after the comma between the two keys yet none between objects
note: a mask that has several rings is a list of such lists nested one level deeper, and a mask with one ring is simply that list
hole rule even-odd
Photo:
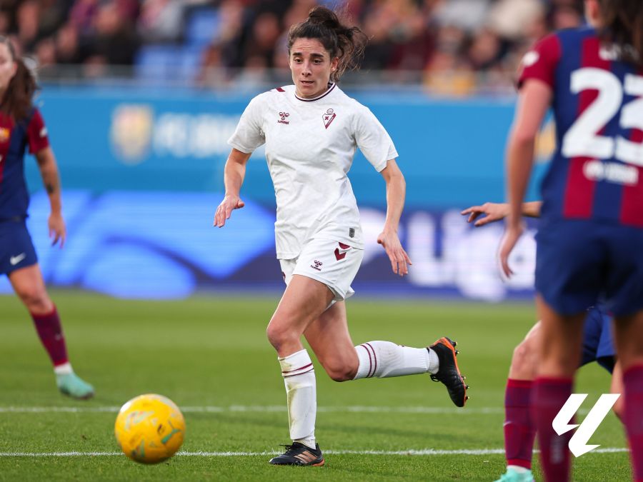
[{"label": "planted front leg of the white-kit player, with sock and boot", "polygon": [[272,458],[270,463],[321,466],[324,458],[314,433],[317,409],[315,372],[309,353],[301,344],[301,335],[326,310],[334,293],[315,279],[297,274],[288,277],[286,291],[266,333],[279,355],[293,444],[286,453]]}]

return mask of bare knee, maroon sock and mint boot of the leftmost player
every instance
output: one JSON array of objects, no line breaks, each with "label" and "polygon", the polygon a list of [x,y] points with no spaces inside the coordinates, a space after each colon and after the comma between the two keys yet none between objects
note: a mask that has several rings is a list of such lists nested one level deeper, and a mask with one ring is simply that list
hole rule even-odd
[{"label": "bare knee, maroon sock and mint boot of the leftmost player", "polygon": [[49,353],[59,390],[74,398],[93,396],[94,388],[71,368],[58,311],[46,291],[39,265],[18,268],[8,276],[16,295],[31,313],[40,341]]}]

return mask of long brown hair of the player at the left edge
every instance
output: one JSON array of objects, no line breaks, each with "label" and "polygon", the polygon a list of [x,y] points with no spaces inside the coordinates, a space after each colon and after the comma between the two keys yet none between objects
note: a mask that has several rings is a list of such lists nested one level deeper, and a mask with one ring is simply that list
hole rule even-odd
[{"label": "long brown hair of the player at the left edge", "polygon": [[26,119],[31,111],[31,101],[37,89],[36,79],[25,65],[24,60],[16,56],[14,44],[8,37],[0,35],[0,44],[5,44],[9,48],[11,58],[17,66],[16,74],[9,81],[9,86],[0,101],[0,111],[16,121],[21,121]]}]

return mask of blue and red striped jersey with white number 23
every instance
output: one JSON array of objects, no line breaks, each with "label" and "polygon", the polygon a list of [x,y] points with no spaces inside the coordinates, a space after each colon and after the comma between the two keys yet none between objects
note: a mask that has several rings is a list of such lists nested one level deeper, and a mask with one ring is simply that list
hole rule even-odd
[{"label": "blue and red striped jersey with white number 23", "polygon": [[529,79],[553,92],[557,147],[541,186],[544,221],[643,228],[643,69],[582,28],[539,41],[519,86]]}]

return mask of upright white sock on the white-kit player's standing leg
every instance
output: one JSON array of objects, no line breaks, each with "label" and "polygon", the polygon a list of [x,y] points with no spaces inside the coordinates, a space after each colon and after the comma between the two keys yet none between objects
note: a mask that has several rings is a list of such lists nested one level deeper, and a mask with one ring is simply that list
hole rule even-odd
[{"label": "upright white sock on the white-kit player's standing leg", "polygon": [[317,396],[315,371],[310,356],[304,348],[278,359],[286,385],[290,438],[294,442],[315,448]]}]

